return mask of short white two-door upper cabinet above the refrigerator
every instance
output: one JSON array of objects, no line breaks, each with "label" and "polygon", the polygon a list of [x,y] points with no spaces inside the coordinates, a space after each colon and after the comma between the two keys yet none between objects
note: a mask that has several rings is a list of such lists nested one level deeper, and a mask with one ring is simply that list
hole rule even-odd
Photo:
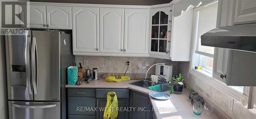
[{"label": "short white two-door upper cabinet above the refrigerator", "polygon": [[72,29],[72,10],[67,6],[30,3],[28,27],[36,29]]}]

